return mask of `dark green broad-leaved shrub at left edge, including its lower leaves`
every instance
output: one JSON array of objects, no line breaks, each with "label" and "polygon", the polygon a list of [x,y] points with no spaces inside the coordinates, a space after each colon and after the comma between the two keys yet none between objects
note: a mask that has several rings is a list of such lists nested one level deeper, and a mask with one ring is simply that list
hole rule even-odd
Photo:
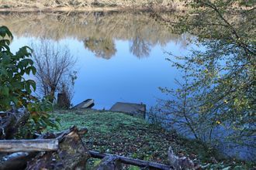
[{"label": "dark green broad-leaved shrub at left edge, including its lower leaves", "polygon": [[[47,114],[47,111],[51,110],[51,104],[47,98],[39,100],[33,97],[36,82],[24,78],[26,75],[36,74],[31,59],[32,49],[23,46],[13,54],[9,48],[13,37],[6,26],[0,27],[0,36],[0,110],[10,110],[13,105],[16,108],[25,107],[29,111],[31,117],[27,122],[26,131],[20,131],[20,134],[40,132],[47,126],[57,128],[55,121]],[[6,36],[9,39],[6,39]]]}]

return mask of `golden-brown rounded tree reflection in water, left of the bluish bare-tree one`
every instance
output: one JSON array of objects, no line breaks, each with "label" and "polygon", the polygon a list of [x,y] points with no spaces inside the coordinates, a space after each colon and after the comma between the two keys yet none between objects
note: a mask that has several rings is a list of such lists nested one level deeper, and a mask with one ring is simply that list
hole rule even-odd
[{"label": "golden-brown rounded tree reflection in water, left of the bluish bare-tree one", "polygon": [[96,39],[89,37],[84,40],[85,49],[89,49],[95,56],[110,59],[116,54],[116,46],[112,39]]}]

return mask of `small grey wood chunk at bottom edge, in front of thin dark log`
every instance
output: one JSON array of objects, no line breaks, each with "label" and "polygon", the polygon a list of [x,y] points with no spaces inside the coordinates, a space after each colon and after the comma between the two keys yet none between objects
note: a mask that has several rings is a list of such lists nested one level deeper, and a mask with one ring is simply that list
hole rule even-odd
[{"label": "small grey wood chunk at bottom edge, in front of thin dark log", "polygon": [[106,156],[102,159],[98,166],[94,168],[95,170],[121,170],[122,164],[119,162],[119,158],[116,156]]}]

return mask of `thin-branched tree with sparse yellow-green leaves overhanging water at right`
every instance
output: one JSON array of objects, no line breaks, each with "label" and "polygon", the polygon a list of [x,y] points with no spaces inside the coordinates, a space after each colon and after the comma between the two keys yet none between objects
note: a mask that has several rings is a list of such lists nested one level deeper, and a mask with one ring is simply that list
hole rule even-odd
[{"label": "thin-branched tree with sparse yellow-green leaves overhanging water at right", "polygon": [[189,1],[192,13],[179,17],[174,31],[195,35],[191,41],[201,50],[176,56],[182,62],[173,64],[187,73],[189,86],[178,93],[186,89],[186,96],[194,100],[194,118],[201,124],[197,131],[211,141],[215,129],[226,129],[230,133],[223,138],[254,147],[256,10],[240,2]]}]

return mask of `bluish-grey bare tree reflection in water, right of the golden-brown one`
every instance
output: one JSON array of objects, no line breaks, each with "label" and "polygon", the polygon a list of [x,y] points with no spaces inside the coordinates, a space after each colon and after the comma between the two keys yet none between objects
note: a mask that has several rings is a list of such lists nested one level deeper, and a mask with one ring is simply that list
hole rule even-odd
[{"label": "bluish-grey bare tree reflection in water, right of the golden-brown one", "polygon": [[137,56],[140,59],[149,56],[150,48],[150,42],[141,39],[140,36],[136,36],[130,46],[130,53],[133,53],[134,56]]}]

